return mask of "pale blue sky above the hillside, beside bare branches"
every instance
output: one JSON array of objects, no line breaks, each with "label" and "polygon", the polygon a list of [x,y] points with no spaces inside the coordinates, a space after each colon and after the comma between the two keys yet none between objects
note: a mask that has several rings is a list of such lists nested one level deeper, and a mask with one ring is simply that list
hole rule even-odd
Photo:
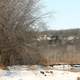
[{"label": "pale blue sky above the hillside, beside bare branches", "polygon": [[46,12],[52,11],[50,29],[80,28],[80,0],[44,0]]}]

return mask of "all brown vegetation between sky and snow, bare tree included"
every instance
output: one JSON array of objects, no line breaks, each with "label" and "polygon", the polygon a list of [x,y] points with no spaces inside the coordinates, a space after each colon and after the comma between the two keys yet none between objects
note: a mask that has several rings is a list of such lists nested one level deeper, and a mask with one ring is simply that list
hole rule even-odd
[{"label": "all brown vegetation between sky and snow, bare tree included", "polygon": [[[0,64],[80,64],[80,30],[38,31],[38,1],[0,0]],[[51,40],[38,41],[42,33]]]}]

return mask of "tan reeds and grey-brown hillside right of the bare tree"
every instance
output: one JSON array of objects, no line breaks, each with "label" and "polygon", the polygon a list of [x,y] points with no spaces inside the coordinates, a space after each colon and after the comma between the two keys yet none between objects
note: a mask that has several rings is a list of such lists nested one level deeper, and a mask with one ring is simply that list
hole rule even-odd
[{"label": "tan reeds and grey-brown hillside right of the bare tree", "polygon": [[[42,49],[44,64],[80,64],[80,29],[48,31],[48,36],[57,35]],[[56,40],[56,42],[54,41]]]}]

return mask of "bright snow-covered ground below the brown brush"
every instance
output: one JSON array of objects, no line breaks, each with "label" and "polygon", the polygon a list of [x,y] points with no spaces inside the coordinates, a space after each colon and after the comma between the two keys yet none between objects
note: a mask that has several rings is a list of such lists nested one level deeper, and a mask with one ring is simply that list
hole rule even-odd
[{"label": "bright snow-covered ground below the brown brush", "polygon": [[77,80],[80,72],[70,72],[68,68],[71,67],[12,66],[8,67],[9,70],[0,70],[0,80]]}]

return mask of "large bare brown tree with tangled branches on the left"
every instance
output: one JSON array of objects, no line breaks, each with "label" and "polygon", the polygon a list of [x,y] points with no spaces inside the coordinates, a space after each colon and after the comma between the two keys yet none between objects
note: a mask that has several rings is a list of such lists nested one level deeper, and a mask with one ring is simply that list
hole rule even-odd
[{"label": "large bare brown tree with tangled branches on the left", "polygon": [[[24,47],[27,49],[36,43],[38,32],[35,32],[35,27],[37,27],[35,24],[43,16],[37,15],[40,8],[39,1],[0,0],[0,62],[2,64],[15,64],[17,59],[18,64],[26,63],[22,54],[26,53],[27,56],[28,52],[24,50]],[[13,59],[12,62],[11,59]]]}]

